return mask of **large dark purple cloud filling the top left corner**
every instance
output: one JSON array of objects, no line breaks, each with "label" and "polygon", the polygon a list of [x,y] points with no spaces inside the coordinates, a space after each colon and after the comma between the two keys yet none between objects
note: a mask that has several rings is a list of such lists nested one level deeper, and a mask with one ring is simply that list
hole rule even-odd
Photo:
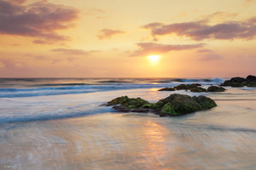
[{"label": "large dark purple cloud filling the top left corner", "polygon": [[56,31],[72,27],[78,10],[47,1],[26,5],[22,0],[14,2],[0,0],[0,34],[39,37],[49,41],[69,39]]}]

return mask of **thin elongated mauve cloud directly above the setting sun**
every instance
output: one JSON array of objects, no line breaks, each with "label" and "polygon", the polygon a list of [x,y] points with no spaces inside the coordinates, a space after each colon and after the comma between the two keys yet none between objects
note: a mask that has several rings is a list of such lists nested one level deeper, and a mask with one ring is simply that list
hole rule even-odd
[{"label": "thin elongated mauve cloud directly above the setting sun", "polygon": [[184,44],[184,45],[167,45],[153,42],[141,42],[137,43],[137,46],[141,49],[133,52],[130,56],[145,56],[148,54],[165,54],[170,51],[180,51],[194,48],[201,48],[203,43],[198,44]]}]

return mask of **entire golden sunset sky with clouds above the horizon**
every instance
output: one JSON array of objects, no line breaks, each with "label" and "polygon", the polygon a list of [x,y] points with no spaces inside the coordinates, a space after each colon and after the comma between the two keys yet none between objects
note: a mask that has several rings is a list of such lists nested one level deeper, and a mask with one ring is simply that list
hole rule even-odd
[{"label": "entire golden sunset sky with clouds above the horizon", "polygon": [[0,77],[256,75],[255,8],[256,0],[0,0]]}]

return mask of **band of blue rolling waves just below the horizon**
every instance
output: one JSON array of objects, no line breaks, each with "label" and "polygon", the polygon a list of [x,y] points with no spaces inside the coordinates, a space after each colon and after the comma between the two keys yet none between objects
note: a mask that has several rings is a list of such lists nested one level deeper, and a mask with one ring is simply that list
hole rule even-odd
[{"label": "band of blue rolling waves just below the horizon", "polygon": [[[18,79],[19,80],[19,79]],[[23,79],[22,79],[23,80]],[[59,79],[57,79],[59,80]],[[42,81],[42,79],[40,79]],[[47,80],[48,81],[48,80]],[[61,94],[86,94],[93,92],[125,90],[136,88],[166,88],[174,87],[180,83],[198,82],[202,85],[219,84],[224,80],[221,78],[212,79],[172,79],[172,78],[152,78],[152,79],[132,79],[125,80],[102,80],[97,81],[93,79],[95,84],[84,82],[65,82],[65,83],[42,83],[25,84],[22,88],[0,88],[0,98],[18,98],[18,97],[33,97],[33,96],[47,96],[47,95],[61,95]],[[50,80],[54,81],[54,80]],[[178,82],[179,81],[179,82]],[[183,81],[183,82],[181,82]],[[135,83],[137,82],[137,83]],[[145,83],[146,82],[146,83]],[[18,85],[17,85],[18,86]],[[9,87],[9,86],[8,86]],[[15,86],[10,86],[15,87]],[[18,86],[19,87],[19,86]]]}]

